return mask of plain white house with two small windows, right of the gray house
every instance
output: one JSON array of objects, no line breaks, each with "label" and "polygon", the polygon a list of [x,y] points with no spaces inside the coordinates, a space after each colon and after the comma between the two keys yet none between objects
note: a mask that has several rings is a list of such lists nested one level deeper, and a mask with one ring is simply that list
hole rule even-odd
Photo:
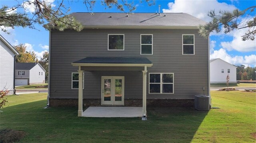
[{"label": "plain white house with two small windows, right of the gray house", "polygon": [[210,83],[236,83],[236,67],[220,58],[210,60]]}]

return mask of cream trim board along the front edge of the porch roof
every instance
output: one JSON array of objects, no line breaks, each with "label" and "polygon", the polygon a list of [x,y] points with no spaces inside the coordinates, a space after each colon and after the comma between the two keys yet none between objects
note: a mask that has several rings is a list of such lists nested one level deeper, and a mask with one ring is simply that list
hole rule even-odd
[{"label": "cream trim board along the front edge of the porch roof", "polygon": [[124,63],[71,63],[73,66],[88,66],[88,67],[152,67],[153,64],[124,64]]}]

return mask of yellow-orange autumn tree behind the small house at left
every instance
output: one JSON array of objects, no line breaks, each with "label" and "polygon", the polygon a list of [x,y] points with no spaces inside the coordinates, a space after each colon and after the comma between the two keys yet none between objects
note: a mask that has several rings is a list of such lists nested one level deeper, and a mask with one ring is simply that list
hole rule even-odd
[{"label": "yellow-orange autumn tree behind the small house at left", "polygon": [[17,63],[38,63],[38,59],[36,58],[34,51],[26,51],[26,46],[24,44],[14,46],[14,48],[19,52],[19,55],[16,56]]}]

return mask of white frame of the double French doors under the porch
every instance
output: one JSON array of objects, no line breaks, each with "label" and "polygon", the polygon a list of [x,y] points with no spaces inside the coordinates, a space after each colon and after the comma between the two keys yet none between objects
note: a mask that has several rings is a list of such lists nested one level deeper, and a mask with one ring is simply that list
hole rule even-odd
[{"label": "white frame of the double French doors under the porch", "polygon": [[[110,85],[110,96],[111,100],[108,101],[109,104],[104,103],[104,79],[110,79],[111,80],[111,85]],[[116,91],[116,86],[115,85],[115,80],[116,79],[121,79],[122,80],[122,101],[115,101],[115,96],[114,92]],[[102,92],[103,91],[103,92]],[[111,106],[122,106],[124,105],[124,76],[101,76],[101,105],[111,105]]]}]

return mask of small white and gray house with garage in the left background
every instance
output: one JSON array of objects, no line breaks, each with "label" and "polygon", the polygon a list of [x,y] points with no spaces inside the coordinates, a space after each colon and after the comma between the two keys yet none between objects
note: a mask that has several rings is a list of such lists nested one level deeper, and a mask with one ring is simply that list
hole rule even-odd
[{"label": "small white and gray house with garage in the left background", "polygon": [[15,85],[41,84],[45,82],[45,70],[39,63],[16,63]]}]

